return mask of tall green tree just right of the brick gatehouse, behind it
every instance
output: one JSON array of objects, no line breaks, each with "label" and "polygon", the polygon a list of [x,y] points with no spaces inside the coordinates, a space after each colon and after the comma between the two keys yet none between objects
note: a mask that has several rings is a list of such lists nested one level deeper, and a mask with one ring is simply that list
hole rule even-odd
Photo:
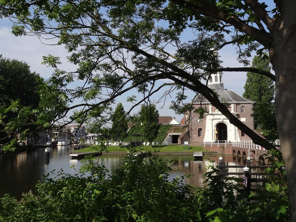
[{"label": "tall green tree just right of the brick gatehouse, behind it", "polygon": [[[251,68],[270,72],[268,55],[255,56]],[[274,81],[258,73],[247,72],[243,97],[255,101],[253,108],[255,128],[270,141],[278,139],[274,106]]]}]

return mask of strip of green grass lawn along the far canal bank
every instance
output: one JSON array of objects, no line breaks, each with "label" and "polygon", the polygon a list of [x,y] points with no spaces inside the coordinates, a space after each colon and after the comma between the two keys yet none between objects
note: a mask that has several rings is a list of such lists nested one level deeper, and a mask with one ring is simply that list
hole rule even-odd
[{"label": "strip of green grass lawn along the far canal bank", "polygon": [[[207,151],[203,147],[196,147],[196,146],[190,146],[189,144],[189,149],[188,147],[185,146],[184,150],[184,145],[168,145],[168,146],[145,146],[145,147],[136,147],[136,150],[140,150],[140,148],[143,148],[143,150],[149,149],[151,151],[159,149],[160,152],[196,152],[196,151]],[[107,149],[109,152],[126,152],[128,149],[126,146],[108,146]],[[88,152],[88,151],[95,151],[93,147],[86,147],[84,149],[80,150],[75,150],[74,152]]]}]

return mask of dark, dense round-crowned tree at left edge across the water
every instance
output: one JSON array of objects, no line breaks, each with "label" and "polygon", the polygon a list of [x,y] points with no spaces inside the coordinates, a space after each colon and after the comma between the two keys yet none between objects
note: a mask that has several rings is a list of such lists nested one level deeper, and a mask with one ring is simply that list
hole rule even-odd
[{"label": "dark, dense round-crowned tree at left edge across the water", "polygon": [[[30,110],[38,107],[40,100],[36,92],[38,77],[38,74],[31,72],[27,63],[3,58],[0,55],[0,141],[2,144],[16,138],[18,133],[33,127],[32,122],[18,121],[17,116],[22,113],[26,118],[33,117],[24,107],[30,107]],[[20,110],[22,112],[18,112]]]}]

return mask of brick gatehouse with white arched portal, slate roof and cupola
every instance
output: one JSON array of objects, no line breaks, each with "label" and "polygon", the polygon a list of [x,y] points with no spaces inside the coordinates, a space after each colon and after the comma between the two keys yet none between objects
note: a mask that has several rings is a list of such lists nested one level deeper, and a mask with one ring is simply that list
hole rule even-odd
[{"label": "brick gatehouse with white arched portal, slate roof and cupola", "polygon": [[[251,114],[255,102],[245,99],[232,90],[224,89],[221,72],[211,75],[208,87],[218,93],[221,102],[229,104],[228,109],[234,116],[254,130],[254,119]],[[193,104],[196,108],[206,107],[208,114],[201,120],[199,114],[185,113],[184,120],[190,128],[188,134],[191,138],[187,138],[189,142],[250,140],[249,136],[229,123],[229,120],[201,94],[193,99]]]}]

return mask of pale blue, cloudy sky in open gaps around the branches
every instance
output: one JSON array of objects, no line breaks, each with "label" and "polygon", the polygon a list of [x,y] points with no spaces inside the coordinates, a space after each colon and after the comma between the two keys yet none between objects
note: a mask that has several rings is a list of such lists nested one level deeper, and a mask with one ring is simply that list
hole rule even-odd
[{"label": "pale blue, cloudy sky in open gaps around the branches", "polygon": [[[12,22],[10,22],[8,19],[0,20],[0,54],[2,54],[3,57],[27,62],[28,65],[30,65],[31,71],[39,73],[44,79],[49,78],[53,73],[52,68],[41,64],[43,61],[42,56],[46,56],[48,54],[59,56],[61,58],[62,65],[59,66],[60,69],[66,71],[75,70],[75,66],[67,62],[66,57],[69,55],[69,53],[63,46],[49,46],[42,44],[37,36],[16,37],[11,33],[11,26]],[[219,51],[219,56],[221,56],[221,60],[223,61],[223,67],[242,67],[242,64],[237,62],[237,54],[235,52],[234,46],[224,47]],[[242,95],[244,92],[243,87],[246,79],[247,76],[244,72],[223,73],[225,89],[231,89],[240,95]],[[194,94],[191,93],[188,96],[191,100],[193,99]],[[181,121],[183,116],[176,115],[173,110],[169,109],[170,102],[172,99],[174,99],[174,94],[172,94],[172,97],[173,98],[168,98],[165,101],[164,107],[162,109],[160,109],[162,104],[157,104],[159,114],[160,116],[176,117],[177,121]],[[119,98],[119,102],[122,102],[121,98]],[[124,103],[125,102],[123,102],[123,104]],[[129,108],[130,104],[126,104],[126,106],[126,108]],[[139,108],[135,109],[135,112],[138,110]]]}]

